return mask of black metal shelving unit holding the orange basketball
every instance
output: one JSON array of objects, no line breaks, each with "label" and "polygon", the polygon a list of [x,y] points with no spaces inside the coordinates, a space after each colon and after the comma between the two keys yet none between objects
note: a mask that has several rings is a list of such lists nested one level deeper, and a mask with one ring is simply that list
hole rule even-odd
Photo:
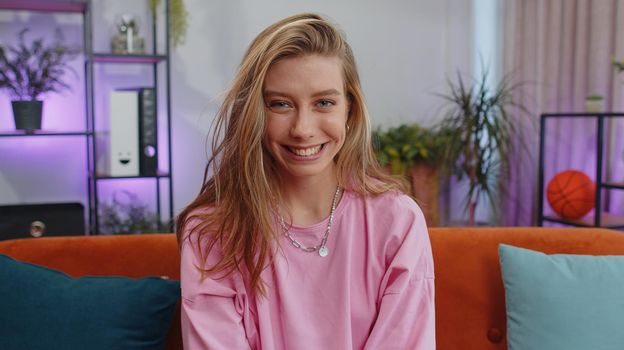
[{"label": "black metal shelving unit holding the orange basketball", "polygon": [[[597,215],[585,217],[579,220],[566,220],[557,216],[544,214],[544,158],[546,147],[546,124],[548,120],[557,118],[573,118],[573,119],[595,119],[596,120],[596,200],[594,212]],[[605,227],[612,229],[624,229],[624,213],[616,215],[613,213],[603,212],[602,208],[602,192],[603,190],[623,190],[624,183],[616,183],[604,180],[604,143],[605,143],[605,120],[609,118],[624,118],[624,113],[544,113],[540,116],[540,145],[539,145],[539,193],[538,193],[538,225],[543,226],[544,222],[554,222],[570,226],[579,227]]]}]

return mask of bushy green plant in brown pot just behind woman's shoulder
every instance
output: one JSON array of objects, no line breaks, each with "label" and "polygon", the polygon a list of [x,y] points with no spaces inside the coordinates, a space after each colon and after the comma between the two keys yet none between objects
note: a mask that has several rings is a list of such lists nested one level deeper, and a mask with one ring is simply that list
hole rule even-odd
[{"label": "bushy green plant in brown pot just behind woman's shoulder", "polygon": [[404,124],[373,133],[377,159],[394,175],[408,178],[412,195],[430,226],[437,226],[440,193],[439,165],[447,142],[437,128]]}]

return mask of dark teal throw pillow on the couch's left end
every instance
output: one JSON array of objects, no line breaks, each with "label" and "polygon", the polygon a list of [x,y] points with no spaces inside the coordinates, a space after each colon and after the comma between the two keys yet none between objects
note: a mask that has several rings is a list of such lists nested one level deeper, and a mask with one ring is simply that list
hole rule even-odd
[{"label": "dark teal throw pillow on the couch's left end", "polygon": [[72,278],[0,254],[0,348],[164,349],[180,284]]}]

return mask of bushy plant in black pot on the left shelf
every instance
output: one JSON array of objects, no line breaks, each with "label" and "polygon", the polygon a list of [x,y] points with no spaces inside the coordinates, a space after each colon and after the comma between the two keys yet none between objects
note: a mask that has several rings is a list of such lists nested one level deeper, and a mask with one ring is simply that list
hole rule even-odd
[{"label": "bushy plant in black pot on the left shelf", "polygon": [[73,71],[68,62],[79,50],[63,44],[60,30],[51,45],[44,44],[42,38],[26,43],[27,32],[19,32],[16,46],[0,45],[0,89],[7,90],[13,99],[15,128],[37,130],[41,129],[43,108],[39,98],[70,88],[63,76],[66,70]]}]

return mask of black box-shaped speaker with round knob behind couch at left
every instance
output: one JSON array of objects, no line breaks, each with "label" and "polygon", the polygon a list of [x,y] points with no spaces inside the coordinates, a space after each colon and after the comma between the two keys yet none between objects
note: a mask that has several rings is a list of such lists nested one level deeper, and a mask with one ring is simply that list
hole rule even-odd
[{"label": "black box-shaped speaker with round knob behind couch at left", "polygon": [[84,234],[81,203],[0,206],[0,240]]}]

